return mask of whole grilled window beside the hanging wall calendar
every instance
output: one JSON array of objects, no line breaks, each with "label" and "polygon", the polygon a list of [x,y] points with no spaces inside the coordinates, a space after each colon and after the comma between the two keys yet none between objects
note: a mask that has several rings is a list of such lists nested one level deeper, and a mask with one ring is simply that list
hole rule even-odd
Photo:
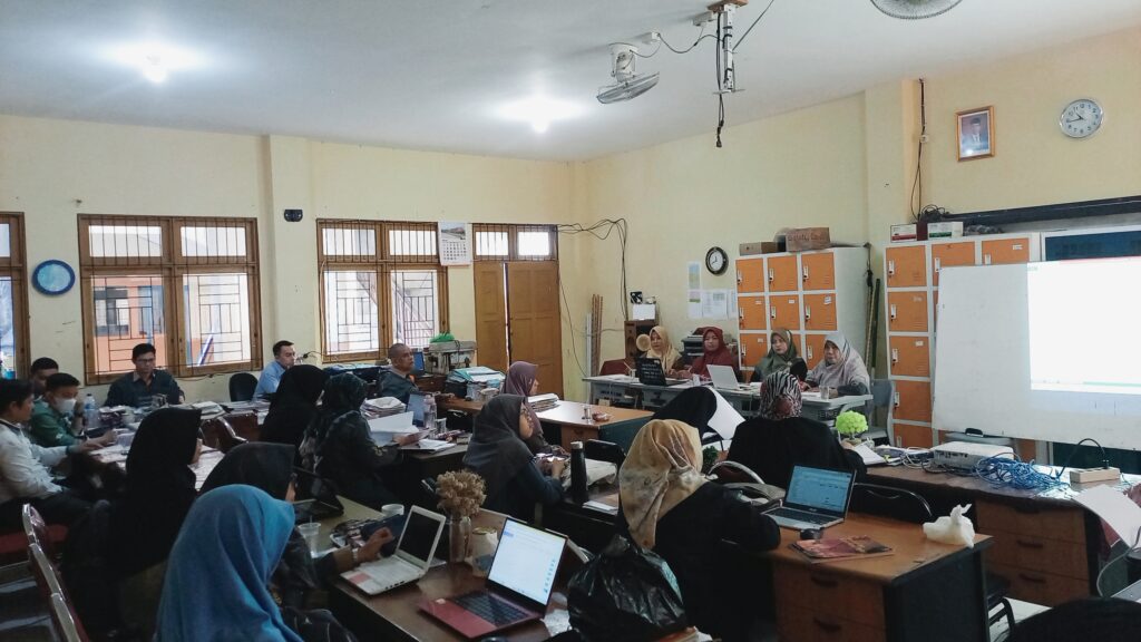
[{"label": "whole grilled window beside the hanging wall calendar", "polygon": [[325,361],[374,361],[447,330],[435,223],[318,219],[317,230]]}]

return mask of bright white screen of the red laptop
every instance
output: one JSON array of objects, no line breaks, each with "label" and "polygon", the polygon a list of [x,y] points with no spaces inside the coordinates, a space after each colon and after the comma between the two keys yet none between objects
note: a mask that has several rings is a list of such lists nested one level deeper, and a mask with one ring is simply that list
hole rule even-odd
[{"label": "bright white screen of the red laptop", "polygon": [[487,579],[545,605],[565,543],[558,535],[507,520]]}]

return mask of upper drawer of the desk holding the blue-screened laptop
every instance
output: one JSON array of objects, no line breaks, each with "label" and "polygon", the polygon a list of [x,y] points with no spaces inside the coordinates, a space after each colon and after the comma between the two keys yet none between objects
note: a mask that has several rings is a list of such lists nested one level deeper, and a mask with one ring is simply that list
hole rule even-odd
[{"label": "upper drawer of the desk holding the blue-screened laptop", "polygon": [[818,567],[778,564],[774,570],[778,612],[783,613],[785,607],[796,607],[827,615],[832,619],[872,628],[884,627],[883,587],[879,584],[828,572]]}]

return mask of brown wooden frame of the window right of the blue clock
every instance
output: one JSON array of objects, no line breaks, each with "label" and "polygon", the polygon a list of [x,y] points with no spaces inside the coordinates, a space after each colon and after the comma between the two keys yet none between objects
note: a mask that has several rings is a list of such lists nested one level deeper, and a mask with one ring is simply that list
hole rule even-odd
[{"label": "brown wooden frame of the window right of the blue clock", "polygon": [[[202,377],[227,372],[259,370],[261,355],[261,278],[258,247],[258,219],[207,216],[138,216],[138,215],[76,215],[79,227],[80,288],[83,299],[83,371],[91,384],[106,384],[123,372],[99,372],[96,353],[95,280],[112,276],[146,276],[156,279],[163,288],[162,316],[163,347],[167,363],[163,369],[176,377]],[[132,225],[159,227],[162,251],[160,256],[92,256],[90,227],[92,225]],[[244,256],[187,256],[183,250],[184,227],[236,227],[245,231]],[[249,299],[250,358],[243,361],[195,366],[184,356],[189,338],[184,302],[185,276],[202,274],[244,274]],[[141,342],[140,342],[141,343]],[[186,361],[186,362],[184,362]]]}]

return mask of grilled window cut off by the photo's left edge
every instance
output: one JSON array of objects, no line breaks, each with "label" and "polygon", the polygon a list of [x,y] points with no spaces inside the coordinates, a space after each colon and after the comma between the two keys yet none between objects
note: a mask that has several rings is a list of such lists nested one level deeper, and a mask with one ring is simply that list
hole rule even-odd
[{"label": "grilled window cut off by the photo's left edge", "polygon": [[30,364],[25,256],[24,215],[0,212],[0,353],[19,377]]}]

